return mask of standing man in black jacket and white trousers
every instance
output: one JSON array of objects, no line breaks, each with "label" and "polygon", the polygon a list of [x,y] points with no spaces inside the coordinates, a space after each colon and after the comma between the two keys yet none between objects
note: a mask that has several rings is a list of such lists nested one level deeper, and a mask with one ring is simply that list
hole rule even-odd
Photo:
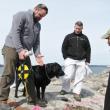
[{"label": "standing man in black jacket and white trousers", "polygon": [[86,74],[86,66],[90,63],[91,47],[86,35],[82,33],[83,23],[77,21],[74,32],[68,34],[62,44],[64,72],[61,95],[70,92],[70,82],[74,80],[72,92],[77,101],[81,101],[80,92]]}]

